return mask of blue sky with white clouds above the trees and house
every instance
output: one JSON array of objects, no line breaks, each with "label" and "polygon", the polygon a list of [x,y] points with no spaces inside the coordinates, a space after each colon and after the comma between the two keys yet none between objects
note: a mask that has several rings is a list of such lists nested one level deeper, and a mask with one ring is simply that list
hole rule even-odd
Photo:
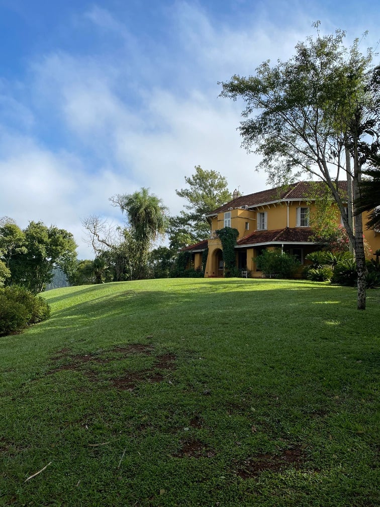
[{"label": "blue sky with white clouds above the trees and house", "polygon": [[288,59],[316,20],[347,45],[368,30],[363,51],[380,38],[367,0],[0,0],[0,218],[67,229],[92,258],[81,221],[121,224],[112,195],[148,187],[177,214],[196,165],[263,190],[217,82]]}]

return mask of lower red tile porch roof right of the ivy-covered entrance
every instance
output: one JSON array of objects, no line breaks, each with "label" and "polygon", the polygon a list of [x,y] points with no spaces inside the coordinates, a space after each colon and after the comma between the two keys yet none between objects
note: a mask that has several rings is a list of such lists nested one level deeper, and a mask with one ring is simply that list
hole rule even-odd
[{"label": "lower red tile porch roof right of the ivy-covered entrance", "polygon": [[262,243],[307,243],[312,242],[310,236],[313,231],[310,227],[295,227],[277,229],[275,231],[255,231],[244,236],[237,242],[237,246],[247,246]]}]

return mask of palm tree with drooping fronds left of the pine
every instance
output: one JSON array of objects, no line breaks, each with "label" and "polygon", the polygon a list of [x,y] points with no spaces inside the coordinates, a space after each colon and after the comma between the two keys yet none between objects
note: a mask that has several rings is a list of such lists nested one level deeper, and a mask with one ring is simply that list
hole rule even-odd
[{"label": "palm tree with drooping fronds left of the pine", "polygon": [[148,254],[154,242],[165,234],[167,207],[149,189],[142,188],[133,194],[118,194],[110,201],[127,214],[129,232],[137,247],[137,278],[147,277]]}]

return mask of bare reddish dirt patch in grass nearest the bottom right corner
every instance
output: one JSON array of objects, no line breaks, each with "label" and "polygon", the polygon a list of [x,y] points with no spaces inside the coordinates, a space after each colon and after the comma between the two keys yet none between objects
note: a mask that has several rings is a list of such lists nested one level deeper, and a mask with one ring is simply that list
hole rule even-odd
[{"label": "bare reddish dirt patch in grass nearest the bottom right corner", "polygon": [[281,454],[257,454],[237,462],[236,475],[242,479],[251,479],[261,472],[281,472],[287,468],[299,468],[305,461],[303,450],[291,447]]}]

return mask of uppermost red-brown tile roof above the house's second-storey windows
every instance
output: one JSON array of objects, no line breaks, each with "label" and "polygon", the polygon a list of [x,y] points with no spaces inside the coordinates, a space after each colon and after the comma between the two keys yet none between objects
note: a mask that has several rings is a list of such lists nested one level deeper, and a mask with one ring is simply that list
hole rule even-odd
[{"label": "uppermost red-brown tile roof above the house's second-storey windows", "polygon": [[[344,196],[347,195],[347,181],[338,182],[338,189]],[[242,195],[237,199],[223,204],[207,216],[227,211],[230,207],[239,208],[241,206],[248,206],[251,208],[283,200],[313,200],[316,195],[323,195],[325,191],[326,185],[323,182],[292,183],[284,187],[277,187],[274,189],[263,190],[261,192],[255,192],[253,194]]]}]

